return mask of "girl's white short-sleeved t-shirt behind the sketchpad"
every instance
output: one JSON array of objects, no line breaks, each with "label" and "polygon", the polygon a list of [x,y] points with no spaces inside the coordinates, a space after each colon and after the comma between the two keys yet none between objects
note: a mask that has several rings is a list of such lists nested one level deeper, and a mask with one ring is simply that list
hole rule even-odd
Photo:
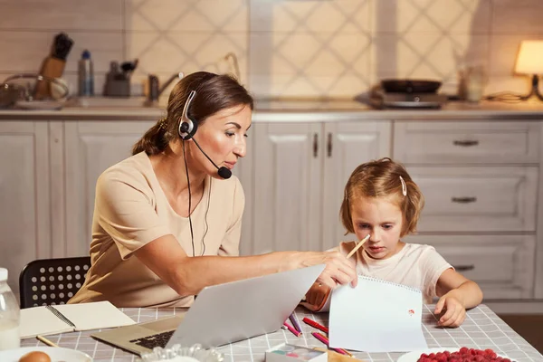
[{"label": "girl's white short-sleeved t-shirt behind the sketchpad", "polygon": [[[339,251],[347,255],[356,245],[356,242],[340,243]],[[435,286],[439,277],[452,268],[433,246],[419,243],[405,243],[402,250],[383,260],[370,258],[363,248],[356,255],[358,274],[416,288],[423,292],[424,303],[432,303],[437,296]],[[320,311],[329,310],[330,300]]]}]

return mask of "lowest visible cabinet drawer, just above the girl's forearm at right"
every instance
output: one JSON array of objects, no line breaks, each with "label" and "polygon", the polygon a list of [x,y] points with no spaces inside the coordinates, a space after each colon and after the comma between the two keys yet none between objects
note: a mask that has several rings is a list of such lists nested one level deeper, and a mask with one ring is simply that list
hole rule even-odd
[{"label": "lowest visible cabinet drawer, just above the girl's forearm at right", "polygon": [[485,300],[532,297],[534,235],[410,235],[405,241],[433,245],[456,271],[480,285]]}]

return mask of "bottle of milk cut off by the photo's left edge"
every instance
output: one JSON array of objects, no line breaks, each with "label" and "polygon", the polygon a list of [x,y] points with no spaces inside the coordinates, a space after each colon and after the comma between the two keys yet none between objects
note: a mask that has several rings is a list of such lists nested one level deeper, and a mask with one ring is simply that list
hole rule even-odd
[{"label": "bottle of milk cut off by the photo's left edge", "polygon": [[0,350],[21,347],[20,314],[14,292],[7,285],[7,269],[0,268]]}]

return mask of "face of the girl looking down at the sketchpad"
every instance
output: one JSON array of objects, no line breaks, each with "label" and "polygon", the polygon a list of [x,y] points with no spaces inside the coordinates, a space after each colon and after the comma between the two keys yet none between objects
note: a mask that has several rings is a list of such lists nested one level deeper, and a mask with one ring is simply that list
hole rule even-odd
[{"label": "face of the girl looking down at the sketchpad", "polygon": [[387,197],[358,197],[351,205],[358,240],[370,234],[363,248],[370,258],[387,259],[402,249],[402,211]]}]

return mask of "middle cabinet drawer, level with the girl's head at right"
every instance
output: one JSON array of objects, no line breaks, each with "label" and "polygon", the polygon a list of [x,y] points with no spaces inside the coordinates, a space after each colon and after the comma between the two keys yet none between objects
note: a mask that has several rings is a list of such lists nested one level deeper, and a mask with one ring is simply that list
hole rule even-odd
[{"label": "middle cabinet drawer, level with the girl's head at right", "polygon": [[407,167],[425,205],[418,231],[534,232],[538,167]]}]

